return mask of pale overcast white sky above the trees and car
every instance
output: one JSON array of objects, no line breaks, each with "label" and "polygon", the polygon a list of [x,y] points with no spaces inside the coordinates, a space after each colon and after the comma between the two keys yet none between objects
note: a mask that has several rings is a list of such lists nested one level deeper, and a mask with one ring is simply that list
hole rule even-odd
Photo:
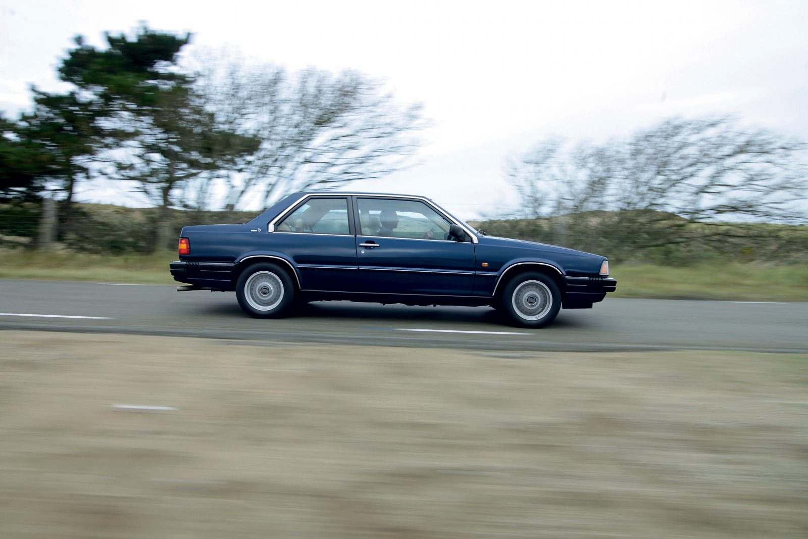
[{"label": "pale overcast white sky above the trees and car", "polygon": [[[622,136],[670,116],[734,114],[808,140],[808,2],[206,2],[0,0],[0,111],[31,106],[31,84],[64,91],[55,71],[85,36],[140,23],[191,32],[194,49],[229,48],[288,69],[356,69],[432,127],[415,166],[348,186],[429,196],[461,218],[518,204],[508,156],[545,137]],[[88,185],[87,201],[137,205],[125,187]]]}]

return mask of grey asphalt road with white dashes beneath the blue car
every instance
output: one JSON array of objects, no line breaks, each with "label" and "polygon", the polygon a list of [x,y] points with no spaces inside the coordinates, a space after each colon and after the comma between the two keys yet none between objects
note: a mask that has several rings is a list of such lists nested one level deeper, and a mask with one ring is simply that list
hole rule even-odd
[{"label": "grey asphalt road with white dashes beneath the blue car", "polygon": [[[88,317],[88,318],[83,318]],[[552,326],[503,325],[487,307],[317,302],[281,320],[249,318],[234,293],[171,285],[0,280],[0,330],[185,335],[251,341],[525,350],[808,352],[808,303],[629,300],[562,310]],[[189,351],[193,353],[193,351]]]}]

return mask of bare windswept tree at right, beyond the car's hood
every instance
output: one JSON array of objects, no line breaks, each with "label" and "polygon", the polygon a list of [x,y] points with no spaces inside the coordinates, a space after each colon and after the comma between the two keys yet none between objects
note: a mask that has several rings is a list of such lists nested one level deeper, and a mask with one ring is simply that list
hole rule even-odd
[{"label": "bare windswept tree at right, beyond the car's hood", "polygon": [[[505,173],[524,217],[563,223],[554,237],[574,231],[582,247],[599,230],[608,238],[598,241],[617,252],[688,242],[688,224],[794,222],[806,214],[806,144],[727,116],[666,120],[597,145],[551,137],[511,158]],[[712,237],[739,230],[718,227]]]}]

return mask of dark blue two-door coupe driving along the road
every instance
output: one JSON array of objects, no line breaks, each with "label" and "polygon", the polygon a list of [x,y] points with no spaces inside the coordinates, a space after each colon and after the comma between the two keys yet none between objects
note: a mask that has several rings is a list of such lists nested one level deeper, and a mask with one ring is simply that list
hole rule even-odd
[{"label": "dark blue two-door coupe driving along the road", "polygon": [[183,227],[178,290],[235,292],[255,318],[298,301],[490,305],[517,326],[588,309],[615,289],[608,260],[494,238],[423,196],[298,192],[246,225]]}]

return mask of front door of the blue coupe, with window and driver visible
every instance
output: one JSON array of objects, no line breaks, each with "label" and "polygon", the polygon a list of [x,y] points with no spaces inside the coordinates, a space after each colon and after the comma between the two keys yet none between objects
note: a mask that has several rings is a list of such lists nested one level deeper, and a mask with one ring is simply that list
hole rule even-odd
[{"label": "front door of the blue coupe, with window and driver visible", "polygon": [[356,197],[356,258],[366,293],[470,296],[472,242],[448,239],[450,221],[418,199]]}]

